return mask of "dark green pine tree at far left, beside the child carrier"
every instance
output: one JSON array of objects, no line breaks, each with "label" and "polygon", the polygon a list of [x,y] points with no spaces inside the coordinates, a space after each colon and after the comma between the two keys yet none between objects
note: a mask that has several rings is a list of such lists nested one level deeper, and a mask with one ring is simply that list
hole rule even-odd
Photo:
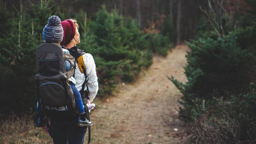
[{"label": "dark green pine tree at far left, beside the child carrier", "polygon": [[[33,5],[32,7],[37,11],[27,13],[27,9],[23,8],[20,1],[20,8],[14,7],[17,16],[12,21],[13,28],[8,32],[8,38],[0,38],[0,59],[2,60],[0,84],[4,90],[1,92],[1,102],[3,102],[1,108],[5,111],[28,112],[30,107],[34,107],[36,101],[35,50],[40,44],[40,35],[37,32],[42,32],[46,24],[45,22],[39,24],[39,19],[34,16],[40,17],[47,6],[42,8]],[[46,16],[50,14],[51,12]]]}]

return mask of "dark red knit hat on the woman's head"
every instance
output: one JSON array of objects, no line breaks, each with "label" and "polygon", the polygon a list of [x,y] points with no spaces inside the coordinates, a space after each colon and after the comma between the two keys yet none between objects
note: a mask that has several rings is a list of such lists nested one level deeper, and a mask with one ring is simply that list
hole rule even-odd
[{"label": "dark red knit hat on the woman's head", "polygon": [[70,41],[74,38],[76,33],[76,26],[72,20],[65,20],[60,23],[64,30],[64,36],[61,45],[65,45],[70,43]]}]

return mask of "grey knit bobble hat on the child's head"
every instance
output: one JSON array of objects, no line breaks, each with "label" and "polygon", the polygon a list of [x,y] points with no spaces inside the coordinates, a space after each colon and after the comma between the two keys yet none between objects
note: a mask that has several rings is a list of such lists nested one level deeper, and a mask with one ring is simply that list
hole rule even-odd
[{"label": "grey knit bobble hat on the child's head", "polygon": [[48,23],[44,26],[43,39],[46,42],[61,42],[63,39],[63,28],[60,24],[61,20],[58,16],[48,18]]}]

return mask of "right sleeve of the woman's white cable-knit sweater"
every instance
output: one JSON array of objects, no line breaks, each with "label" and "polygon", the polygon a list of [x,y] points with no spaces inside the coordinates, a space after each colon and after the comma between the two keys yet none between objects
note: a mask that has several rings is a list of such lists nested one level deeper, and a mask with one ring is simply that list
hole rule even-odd
[{"label": "right sleeve of the woman's white cable-knit sweater", "polygon": [[[86,74],[88,76],[88,89],[89,89],[89,99],[90,102],[93,101],[95,98],[96,94],[98,93],[98,77],[96,74],[96,65],[94,62],[94,59],[91,54],[84,54],[84,64],[86,66]],[[86,86],[84,90],[86,90]]]}]

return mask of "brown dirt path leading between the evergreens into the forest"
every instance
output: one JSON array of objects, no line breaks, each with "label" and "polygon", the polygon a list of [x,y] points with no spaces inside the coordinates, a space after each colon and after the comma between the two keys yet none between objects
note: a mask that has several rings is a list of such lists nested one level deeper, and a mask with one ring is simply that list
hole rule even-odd
[{"label": "brown dirt path leading between the evergreens into the forest", "polygon": [[[91,120],[92,144],[174,144],[180,93],[166,76],[186,81],[186,46],[177,46],[166,58],[154,57],[150,69],[132,84],[120,86],[114,97],[100,102]],[[87,135],[86,135],[87,136]],[[87,140],[87,138],[86,138]]]}]

